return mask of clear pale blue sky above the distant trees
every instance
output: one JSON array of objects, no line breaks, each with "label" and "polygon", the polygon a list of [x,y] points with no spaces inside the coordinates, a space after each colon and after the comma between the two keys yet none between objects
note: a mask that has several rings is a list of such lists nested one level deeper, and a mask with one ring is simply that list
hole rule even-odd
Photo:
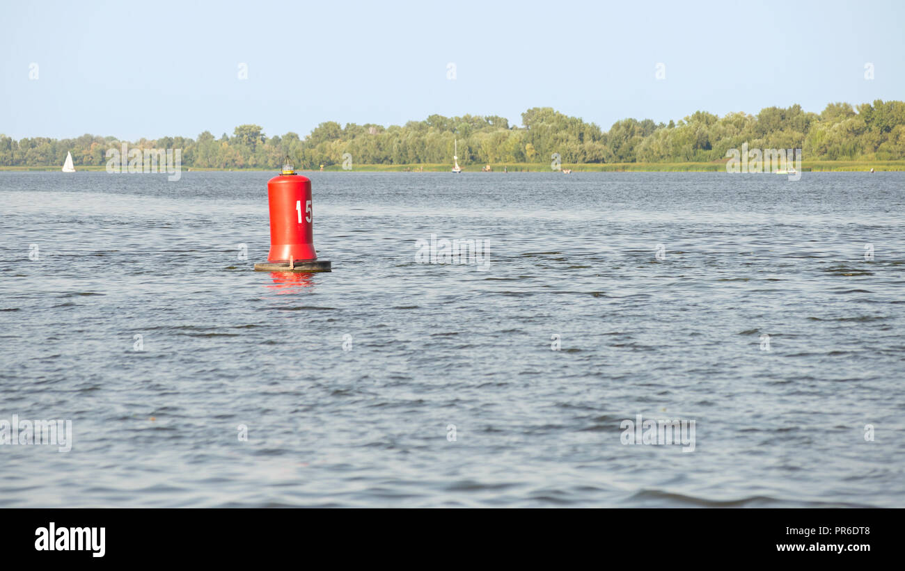
[{"label": "clear pale blue sky above the distant trees", "polygon": [[305,136],[322,121],[433,113],[520,124],[531,107],[608,129],[905,99],[901,1],[4,0],[2,14],[0,133],[15,138],[220,136],[243,123]]}]

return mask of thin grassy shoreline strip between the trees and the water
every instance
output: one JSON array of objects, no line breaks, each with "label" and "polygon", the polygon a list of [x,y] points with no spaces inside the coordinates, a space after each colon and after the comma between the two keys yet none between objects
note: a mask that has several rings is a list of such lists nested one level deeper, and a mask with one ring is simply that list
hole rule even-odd
[{"label": "thin grassy shoreline strip between the trees and the water", "polygon": [[[481,173],[482,164],[462,166],[463,173]],[[510,173],[550,173],[549,164],[491,164],[491,173],[502,173],[507,169]],[[450,164],[362,164],[346,170],[340,164],[331,164],[321,169],[297,169],[300,173],[449,173]],[[725,162],[717,163],[586,163],[562,164],[563,170],[575,173],[719,173],[726,171]],[[59,171],[59,165],[44,166],[0,166],[0,172],[53,172]],[[77,171],[104,172],[105,165],[76,165]],[[853,172],[902,172],[905,171],[905,160],[902,161],[802,161],[803,173],[853,173]],[[218,168],[218,167],[183,167],[183,172],[273,172],[274,168]]]}]

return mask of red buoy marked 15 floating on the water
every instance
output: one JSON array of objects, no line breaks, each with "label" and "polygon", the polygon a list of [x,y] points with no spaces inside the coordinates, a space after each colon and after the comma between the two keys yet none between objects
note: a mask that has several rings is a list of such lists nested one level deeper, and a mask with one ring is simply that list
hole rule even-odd
[{"label": "red buoy marked 15 floating on the water", "polygon": [[271,211],[271,251],[267,264],[254,269],[296,272],[329,272],[328,260],[319,260],[314,250],[311,181],[295,173],[289,162],[282,173],[267,182],[267,200]]}]

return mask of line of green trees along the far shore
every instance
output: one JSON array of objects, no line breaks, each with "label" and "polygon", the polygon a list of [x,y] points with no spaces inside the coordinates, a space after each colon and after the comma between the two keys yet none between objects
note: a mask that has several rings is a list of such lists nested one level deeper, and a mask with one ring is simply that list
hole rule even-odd
[{"label": "line of green trees along the far shore", "polygon": [[164,136],[156,140],[120,141],[83,135],[73,139],[46,137],[18,141],[0,135],[0,165],[62,164],[71,152],[76,165],[107,164],[106,152],[127,143],[130,148],[179,148],[187,167],[277,169],[289,155],[296,166],[356,164],[452,163],[458,141],[460,164],[543,164],[559,154],[564,164],[687,163],[723,160],[731,148],[802,149],[805,160],[905,159],[905,103],[882,101],[853,107],[831,103],[821,113],[801,106],[764,108],[757,115],[729,113],[718,117],[697,111],[669,124],[651,119],[623,119],[608,131],[553,108],[530,108],[521,126],[497,116],[432,115],[404,126],[376,124],[340,126],[321,123],[310,135],[266,136],[261,126],[235,127],[233,136],[216,138],[205,131],[197,138]]}]

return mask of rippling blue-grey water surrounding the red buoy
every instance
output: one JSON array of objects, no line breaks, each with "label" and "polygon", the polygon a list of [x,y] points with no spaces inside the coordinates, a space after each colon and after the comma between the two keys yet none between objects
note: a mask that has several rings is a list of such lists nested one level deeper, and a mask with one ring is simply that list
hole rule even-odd
[{"label": "rippling blue-grey water surrounding the red buoy", "polygon": [[905,507],[905,173],[272,175],[0,173],[0,506]]}]

